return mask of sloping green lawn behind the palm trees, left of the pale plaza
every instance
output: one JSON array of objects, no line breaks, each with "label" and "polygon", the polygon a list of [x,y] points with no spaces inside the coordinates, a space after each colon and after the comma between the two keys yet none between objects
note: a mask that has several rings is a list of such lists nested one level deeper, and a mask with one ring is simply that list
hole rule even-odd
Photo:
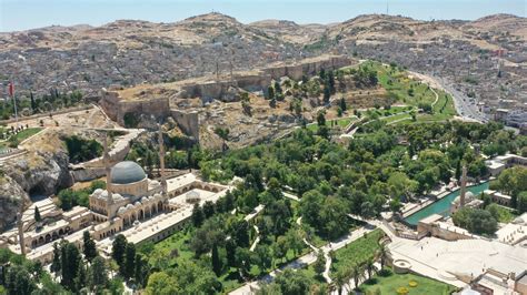
[{"label": "sloping green lawn behind the palm trees, left of the pale plaza", "polygon": [[335,251],[335,261],[331,263],[330,276],[335,277],[340,269],[355,264],[362,264],[367,260],[375,256],[379,248],[379,240],[385,235],[381,230],[377,228],[360,237],[355,242]]}]

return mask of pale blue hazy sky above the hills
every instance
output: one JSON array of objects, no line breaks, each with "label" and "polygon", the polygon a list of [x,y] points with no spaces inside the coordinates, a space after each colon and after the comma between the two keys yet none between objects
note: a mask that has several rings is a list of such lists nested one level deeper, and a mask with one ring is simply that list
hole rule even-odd
[{"label": "pale blue hazy sky above the hills", "polygon": [[51,24],[100,26],[117,19],[173,22],[211,11],[241,22],[287,19],[330,23],[364,13],[421,20],[473,20],[494,13],[526,17],[527,0],[0,0],[0,31]]}]

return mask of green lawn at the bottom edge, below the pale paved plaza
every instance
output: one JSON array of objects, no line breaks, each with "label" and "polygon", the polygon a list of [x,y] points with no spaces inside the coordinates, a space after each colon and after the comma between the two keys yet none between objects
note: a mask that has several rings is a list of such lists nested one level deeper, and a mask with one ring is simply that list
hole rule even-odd
[{"label": "green lawn at the bottom edge, below the pale paved plaza", "polygon": [[[417,285],[411,287],[410,282],[416,282]],[[376,275],[371,282],[366,282],[359,286],[366,294],[397,294],[399,287],[406,287],[410,295],[448,295],[457,289],[455,286],[428,277],[415,274],[392,274],[391,272],[388,276]]]}]

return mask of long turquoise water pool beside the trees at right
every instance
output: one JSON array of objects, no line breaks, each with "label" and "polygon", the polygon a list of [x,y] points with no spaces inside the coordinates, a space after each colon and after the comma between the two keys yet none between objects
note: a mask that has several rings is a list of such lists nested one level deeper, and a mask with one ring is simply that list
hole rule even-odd
[{"label": "long turquoise water pool beside the trees at right", "polygon": [[[468,187],[468,191],[473,192],[475,195],[480,194],[485,190],[488,190],[488,182]],[[405,221],[409,224],[417,225],[420,220],[428,217],[431,214],[447,216],[449,214],[450,203],[454,201],[454,199],[456,199],[456,196],[459,195],[459,193],[460,190],[449,193],[441,200],[438,200],[429,204],[428,206],[419,210],[418,212],[411,214],[410,216],[406,217]]]}]

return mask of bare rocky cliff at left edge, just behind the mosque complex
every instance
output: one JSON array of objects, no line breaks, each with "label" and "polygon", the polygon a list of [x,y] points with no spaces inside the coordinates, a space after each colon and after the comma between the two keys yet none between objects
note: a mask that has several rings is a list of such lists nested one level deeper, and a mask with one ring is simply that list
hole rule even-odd
[{"label": "bare rocky cliff at left edge, just behind the mosque complex", "polygon": [[50,195],[72,185],[68,153],[58,134],[48,132],[40,138],[24,146],[26,154],[6,161],[1,167],[0,227],[16,221],[20,206],[31,203],[31,195]]}]

